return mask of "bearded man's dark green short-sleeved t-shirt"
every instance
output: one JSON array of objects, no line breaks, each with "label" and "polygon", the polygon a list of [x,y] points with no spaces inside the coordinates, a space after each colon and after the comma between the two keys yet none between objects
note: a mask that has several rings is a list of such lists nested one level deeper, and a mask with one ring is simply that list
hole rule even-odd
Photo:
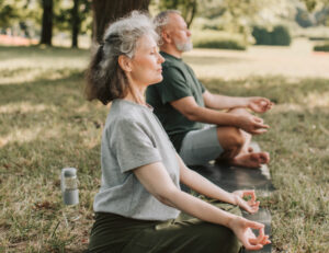
[{"label": "bearded man's dark green short-sleeved t-shirt", "polygon": [[154,106],[154,113],[160,119],[177,151],[180,151],[185,135],[191,130],[201,129],[202,123],[191,122],[170,102],[193,96],[200,106],[204,107],[204,85],[196,79],[193,70],[182,59],[160,53],[166,61],[162,64],[163,80],[149,85],[146,91],[146,101]]}]

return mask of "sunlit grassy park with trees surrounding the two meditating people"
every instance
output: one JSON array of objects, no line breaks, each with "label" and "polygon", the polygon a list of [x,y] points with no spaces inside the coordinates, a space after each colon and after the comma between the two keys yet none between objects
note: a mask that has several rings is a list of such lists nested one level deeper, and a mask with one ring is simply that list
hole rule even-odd
[{"label": "sunlit grassy park with trees surrounding the two meditating people", "polygon": [[1,0],[0,252],[87,249],[109,107],[84,100],[83,72],[106,23],[133,9],[181,10],[195,47],[184,60],[207,89],[275,103],[256,137],[276,188],[261,199],[272,251],[329,252],[328,0]]}]

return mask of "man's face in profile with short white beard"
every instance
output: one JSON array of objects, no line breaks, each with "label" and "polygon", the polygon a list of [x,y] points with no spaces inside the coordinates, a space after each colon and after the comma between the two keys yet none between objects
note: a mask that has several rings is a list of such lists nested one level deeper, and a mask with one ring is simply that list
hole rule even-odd
[{"label": "man's face in profile with short white beard", "polygon": [[191,42],[191,31],[184,19],[175,13],[169,15],[169,23],[167,25],[167,31],[172,37],[172,41],[179,51],[192,50],[193,44]]}]

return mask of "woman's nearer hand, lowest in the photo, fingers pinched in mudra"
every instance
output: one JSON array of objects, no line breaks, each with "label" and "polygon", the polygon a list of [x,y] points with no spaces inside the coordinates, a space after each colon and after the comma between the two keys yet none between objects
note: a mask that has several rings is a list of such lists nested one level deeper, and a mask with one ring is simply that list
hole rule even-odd
[{"label": "woman's nearer hand, lowest in the photo, fingers pinched in mudra", "polygon": [[[237,216],[230,220],[228,226],[247,250],[257,251],[271,243],[269,235],[264,233],[264,225],[262,223]],[[258,229],[259,235],[256,237],[251,229]]]}]

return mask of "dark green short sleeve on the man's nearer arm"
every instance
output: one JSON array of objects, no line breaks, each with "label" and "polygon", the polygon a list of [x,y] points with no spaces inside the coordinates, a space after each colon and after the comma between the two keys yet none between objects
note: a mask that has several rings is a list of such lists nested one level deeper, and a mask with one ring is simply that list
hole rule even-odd
[{"label": "dark green short sleeve on the man's nearer arm", "polygon": [[162,81],[156,84],[162,104],[192,96],[192,91],[181,70],[175,67],[166,67],[162,77]]}]

